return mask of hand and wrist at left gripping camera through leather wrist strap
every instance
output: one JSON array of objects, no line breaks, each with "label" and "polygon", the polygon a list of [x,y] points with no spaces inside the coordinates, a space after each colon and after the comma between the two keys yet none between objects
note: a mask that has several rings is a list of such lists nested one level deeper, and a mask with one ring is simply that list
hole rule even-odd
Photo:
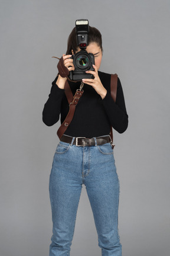
[{"label": "hand and wrist at left gripping camera through leather wrist strap", "polygon": [[[64,66],[68,69],[68,71],[74,71],[73,59],[70,59],[72,55],[64,55],[63,54],[63,63]],[[66,83],[67,78],[63,78],[61,75],[58,75],[58,79],[55,84],[58,85],[60,89],[64,89],[64,85]]]}]

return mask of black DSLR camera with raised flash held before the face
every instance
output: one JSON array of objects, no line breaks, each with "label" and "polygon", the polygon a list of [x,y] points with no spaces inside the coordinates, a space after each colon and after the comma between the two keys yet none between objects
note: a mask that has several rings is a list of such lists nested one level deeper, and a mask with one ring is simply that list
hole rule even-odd
[{"label": "black DSLR camera with raised flash held before the face", "polygon": [[73,81],[78,81],[83,78],[94,79],[94,76],[86,71],[94,71],[94,55],[93,53],[87,53],[86,47],[88,45],[89,34],[89,21],[88,20],[76,20],[76,39],[77,46],[80,47],[80,52],[72,55],[70,59],[73,59],[74,71],[70,71],[69,78]]}]

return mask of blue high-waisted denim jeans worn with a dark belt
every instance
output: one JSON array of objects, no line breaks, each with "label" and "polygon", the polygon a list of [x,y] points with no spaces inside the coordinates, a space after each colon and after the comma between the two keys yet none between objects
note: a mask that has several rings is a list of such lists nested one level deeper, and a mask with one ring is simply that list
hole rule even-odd
[{"label": "blue high-waisted denim jeans worn with a dark belt", "polygon": [[102,256],[122,256],[117,228],[120,187],[112,146],[76,146],[73,140],[71,144],[58,143],[50,174],[50,256],[70,255],[82,184],[90,200]]}]

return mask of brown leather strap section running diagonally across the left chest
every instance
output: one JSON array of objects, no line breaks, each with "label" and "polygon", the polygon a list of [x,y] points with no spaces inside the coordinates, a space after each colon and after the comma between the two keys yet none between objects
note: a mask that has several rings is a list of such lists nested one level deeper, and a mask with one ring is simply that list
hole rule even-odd
[{"label": "brown leather strap section running diagonally across the left chest", "polygon": [[70,123],[73,119],[73,116],[74,116],[74,111],[76,110],[76,105],[77,105],[77,103],[79,103],[79,100],[84,92],[82,89],[77,89],[76,94],[74,94],[74,97],[73,97],[73,94],[70,89],[70,85],[68,84],[67,80],[66,80],[66,84],[64,86],[64,91],[65,91],[70,109],[68,111],[66,119],[64,120],[64,122],[61,124],[61,126],[59,127],[59,129],[57,131],[57,135],[58,135],[59,139],[63,136],[64,132],[66,132],[66,130],[67,130],[67,127],[70,125]]}]

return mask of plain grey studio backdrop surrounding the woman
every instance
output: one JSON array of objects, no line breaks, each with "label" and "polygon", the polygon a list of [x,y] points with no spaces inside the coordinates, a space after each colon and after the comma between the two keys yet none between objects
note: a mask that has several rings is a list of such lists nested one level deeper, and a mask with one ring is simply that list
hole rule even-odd
[{"label": "plain grey studio backdrop surrounding the woman", "polygon": [[[76,19],[103,36],[100,71],[117,73],[129,114],[114,132],[126,256],[169,255],[169,23],[166,0],[1,0],[1,256],[47,256],[48,180],[58,143],[41,115]],[[72,256],[101,255],[83,185]]]}]

